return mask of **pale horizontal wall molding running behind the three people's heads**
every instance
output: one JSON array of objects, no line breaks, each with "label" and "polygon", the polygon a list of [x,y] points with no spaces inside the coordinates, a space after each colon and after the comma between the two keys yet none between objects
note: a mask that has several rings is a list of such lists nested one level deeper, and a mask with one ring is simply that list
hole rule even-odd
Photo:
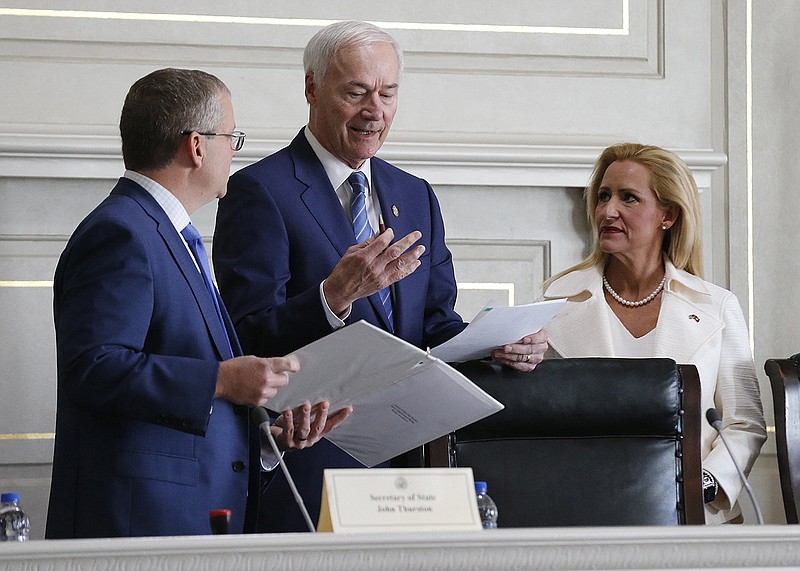
[{"label": "pale horizontal wall molding running behind the three people's heads", "polygon": [[[21,178],[116,179],[123,172],[119,137],[93,134],[80,126],[0,125],[0,172]],[[38,129],[38,130],[37,130]],[[251,137],[234,158],[238,170],[285,146],[294,132]],[[395,136],[397,135],[397,136]],[[540,144],[497,134],[448,135],[435,139],[423,133],[392,133],[380,156],[431,184],[467,186],[583,187],[595,159],[609,140]],[[724,153],[708,149],[673,149],[686,161],[701,189],[726,163]]]}]

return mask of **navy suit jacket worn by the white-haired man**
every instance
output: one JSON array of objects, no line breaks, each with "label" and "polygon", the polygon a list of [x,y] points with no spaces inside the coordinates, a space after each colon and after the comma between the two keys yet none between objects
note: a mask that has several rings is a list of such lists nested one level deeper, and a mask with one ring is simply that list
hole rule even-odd
[{"label": "navy suit jacket worn by the white-haired man", "polygon": [[[439,203],[427,182],[378,158],[372,185],[395,237],[419,230],[425,246],[420,267],[393,287],[394,333],[421,348],[439,345],[465,327],[453,310],[456,283]],[[354,244],[353,227],[302,131],[288,147],[236,172],[219,202],[214,266],[245,350],[284,355],[329,334],[319,285]],[[387,328],[377,293],[356,301],[346,323],[361,319]],[[322,470],[360,466],[327,440],[286,459],[313,518]],[[259,531],[306,529],[282,474],[262,503]]]}]

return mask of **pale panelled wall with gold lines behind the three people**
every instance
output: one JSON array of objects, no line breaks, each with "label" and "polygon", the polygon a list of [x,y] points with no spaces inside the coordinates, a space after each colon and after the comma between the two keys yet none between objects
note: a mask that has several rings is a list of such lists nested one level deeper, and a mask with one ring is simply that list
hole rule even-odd
[{"label": "pale panelled wall with gold lines behind the three people", "polygon": [[[787,0],[778,4],[755,18],[764,161],[754,185],[759,369],[763,358],[794,351],[786,335],[792,314],[779,304],[788,286],[773,278],[784,266],[773,253],[792,242],[786,169],[797,130],[785,118],[796,66],[784,40],[793,40],[798,14],[787,12]],[[382,23],[404,48],[400,111],[381,155],[437,189],[460,281],[495,275],[515,283],[518,303],[538,295],[542,279],[586,254],[581,187],[597,154],[634,140],[676,150],[692,168],[702,190],[706,277],[730,284],[747,307],[746,5],[0,0],[0,283],[51,279],[66,237],[121,174],[117,122],[133,81],[166,66],[222,78],[248,134],[235,170],[282,147],[304,124],[301,59],[311,35],[328,21],[357,18]],[[195,214],[207,239],[214,213],[208,205]],[[771,222],[775,213],[780,224]],[[482,296],[465,292],[467,316]],[[13,349],[0,354],[0,390],[14,395],[0,404],[0,484],[37,490],[39,534],[47,465],[38,462],[52,440],[3,435],[17,426],[52,432],[51,300],[47,288],[0,288],[10,318],[0,344]],[[768,519],[779,521],[771,446],[754,479],[768,498]]]}]

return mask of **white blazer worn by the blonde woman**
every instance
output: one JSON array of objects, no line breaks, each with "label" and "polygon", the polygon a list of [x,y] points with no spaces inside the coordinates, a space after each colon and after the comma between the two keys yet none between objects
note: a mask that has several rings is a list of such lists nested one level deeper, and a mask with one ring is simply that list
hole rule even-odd
[{"label": "white blazer worn by the blonde woman", "polygon": [[[747,324],[730,291],[678,270],[665,259],[667,281],[656,325],[653,357],[697,367],[701,411],[722,415],[722,430],[736,461],[750,472],[767,438],[761,396],[753,366]],[[554,281],[545,299],[570,298],[547,326],[549,357],[615,357],[610,310],[603,295],[600,268],[570,272]],[[703,422],[703,468],[725,492],[706,505],[706,523],[724,523],[741,514],[742,484],[716,431]]]}]

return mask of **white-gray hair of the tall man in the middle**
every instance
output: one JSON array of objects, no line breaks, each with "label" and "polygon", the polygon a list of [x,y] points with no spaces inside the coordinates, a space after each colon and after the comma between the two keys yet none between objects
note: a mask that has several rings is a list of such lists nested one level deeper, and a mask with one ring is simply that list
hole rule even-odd
[{"label": "white-gray hair of the tall man in the middle", "polygon": [[314,77],[317,85],[321,85],[325,80],[328,65],[340,49],[378,43],[387,43],[394,48],[397,65],[402,74],[403,50],[400,49],[397,40],[378,26],[353,20],[336,22],[314,34],[303,52],[303,69],[306,75],[311,74]]}]

